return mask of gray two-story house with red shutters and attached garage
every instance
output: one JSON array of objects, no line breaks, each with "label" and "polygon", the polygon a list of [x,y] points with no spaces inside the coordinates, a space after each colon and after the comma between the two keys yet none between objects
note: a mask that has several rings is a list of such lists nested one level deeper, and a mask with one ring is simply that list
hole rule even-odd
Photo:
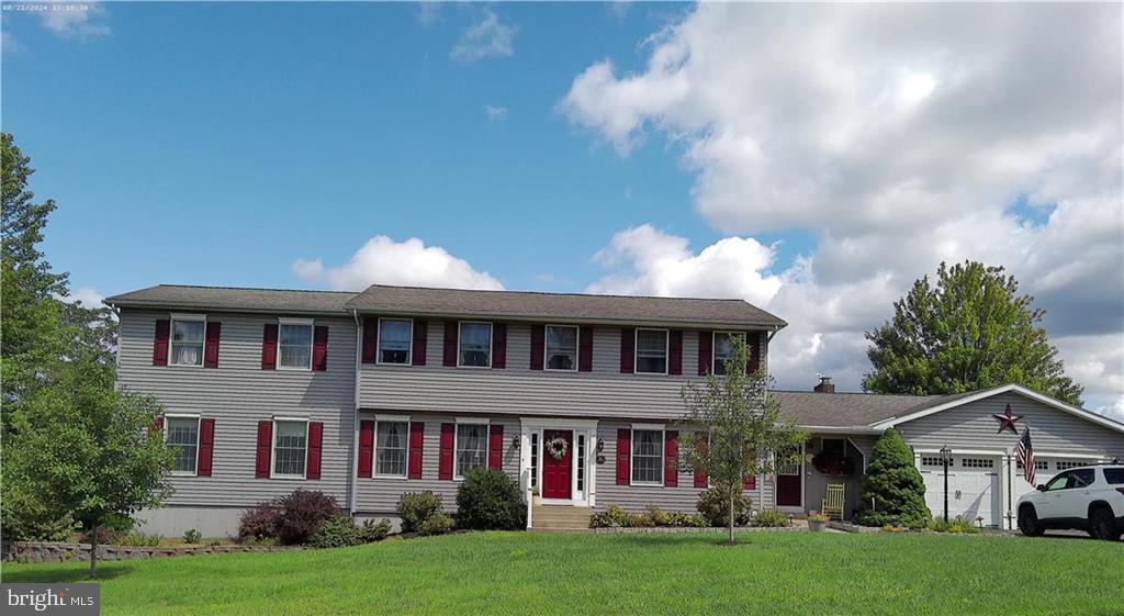
[{"label": "gray two-story house with red shutters and attached garage", "polygon": [[[751,343],[747,370],[768,368],[786,325],[742,300],[386,286],[158,286],[106,301],[120,319],[119,384],[160,400],[178,452],[167,506],[142,515],[165,535],[234,534],[245,508],[297,488],[356,517],[393,519],[399,497],[423,490],[452,507],[479,466],[518,478],[544,508],[692,511],[707,478],[679,464],[680,389],[723,369],[732,336]],[[818,509],[826,484],[844,483],[853,510],[892,426],[926,477],[952,447],[958,513],[1006,526],[1031,487],[1008,481],[1017,434],[992,419],[1004,407],[1033,425],[1043,473],[1124,456],[1124,425],[1017,386],[909,397],[825,380],[776,395],[814,437],[803,463],[746,482],[755,508]]]}]

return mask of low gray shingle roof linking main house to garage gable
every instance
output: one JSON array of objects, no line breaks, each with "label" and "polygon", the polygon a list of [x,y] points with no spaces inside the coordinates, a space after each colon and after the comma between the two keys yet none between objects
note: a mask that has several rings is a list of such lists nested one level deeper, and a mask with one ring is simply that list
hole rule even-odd
[{"label": "low gray shingle roof linking main house to garage gable", "polygon": [[869,426],[925,408],[951,402],[975,392],[949,396],[896,396],[883,393],[821,393],[818,391],[773,391],[781,410],[801,426]]}]

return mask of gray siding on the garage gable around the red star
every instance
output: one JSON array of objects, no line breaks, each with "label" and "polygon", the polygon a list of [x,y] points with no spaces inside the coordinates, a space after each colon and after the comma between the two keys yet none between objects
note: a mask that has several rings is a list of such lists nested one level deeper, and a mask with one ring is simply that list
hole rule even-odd
[{"label": "gray siding on the garage gable around the red star", "polygon": [[[1022,416],[1016,424],[1019,434],[1006,431],[996,434],[998,423],[992,414],[1001,414],[1007,405]],[[906,422],[898,432],[914,449],[1014,451],[1023,428],[1031,427],[1035,454],[1073,453],[1124,456],[1124,433],[1095,424],[1063,410],[1043,405],[1015,392],[968,402],[933,415]]]}]

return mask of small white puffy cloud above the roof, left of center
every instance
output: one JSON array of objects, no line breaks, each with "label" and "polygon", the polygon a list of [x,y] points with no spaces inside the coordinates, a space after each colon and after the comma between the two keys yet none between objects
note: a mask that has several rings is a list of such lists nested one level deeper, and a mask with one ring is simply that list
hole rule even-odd
[{"label": "small white puffy cloud above the roof, left of center", "polygon": [[336,268],[325,268],[320,259],[298,259],[292,271],[301,280],[327,283],[337,290],[359,291],[369,284],[405,284],[451,289],[502,289],[488,272],[477,271],[463,259],[441,246],[426,246],[411,237],[395,242],[377,235],[363,244],[351,260]]}]

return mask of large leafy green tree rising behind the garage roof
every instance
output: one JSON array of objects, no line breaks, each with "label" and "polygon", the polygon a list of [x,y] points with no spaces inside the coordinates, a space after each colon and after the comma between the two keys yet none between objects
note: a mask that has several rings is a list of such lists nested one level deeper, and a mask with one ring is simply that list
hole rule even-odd
[{"label": "large leafy green tree rising behind the garage roof", "polygon": [[1084,388],[1066,375],[1040,323],[1034,298],[1003,268],[941,263],[894,302],[894,319],[867,333],[874,370],[863,389],[878,393],[960,393],[1018,383],[1080,406]]}]

